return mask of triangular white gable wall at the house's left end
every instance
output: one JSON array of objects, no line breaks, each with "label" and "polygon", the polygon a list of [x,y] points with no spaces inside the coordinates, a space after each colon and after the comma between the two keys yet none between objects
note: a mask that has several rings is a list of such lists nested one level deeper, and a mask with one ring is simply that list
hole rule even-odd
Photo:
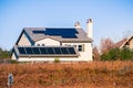
[{"label": "triangular white gable wall at the house's left end", "polygon": [[30,41],[28,40],[28,37],[25,36],[24,33],[20,37],[20,41],[18,42],[18,45],[20,45],[20,46],[29,46],[29,45],[31,45]]}]

